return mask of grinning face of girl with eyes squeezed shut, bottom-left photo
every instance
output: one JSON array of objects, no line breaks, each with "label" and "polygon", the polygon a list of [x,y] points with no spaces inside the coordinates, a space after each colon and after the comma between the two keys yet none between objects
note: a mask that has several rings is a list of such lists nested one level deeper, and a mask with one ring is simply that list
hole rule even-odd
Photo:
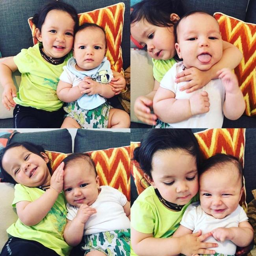
[{"label": "grinning face of girl with eyes squeezed shut, bottom-left photo", "polygon": [[27,187],[50,185],[49,161],[45,153],[42,156],[19,146],[9,148],[2,159],[2,166],[13,179]]}]

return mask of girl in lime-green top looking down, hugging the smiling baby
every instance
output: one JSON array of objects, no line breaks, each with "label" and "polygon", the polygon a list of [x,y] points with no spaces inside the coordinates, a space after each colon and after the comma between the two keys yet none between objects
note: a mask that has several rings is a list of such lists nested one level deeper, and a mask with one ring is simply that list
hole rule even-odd
[{"label": "girl in lime-green top looking down, hugging the smiling baby", "polygon": [[[171,237],[187,206],[196,201],[200,150],[189,129],[153,129],[135,148],[150,187],[131,208],[131,255],[210,254],[214,243],[202,243],[211,233]],[[161,238],[161,239],[159,239]]]}]

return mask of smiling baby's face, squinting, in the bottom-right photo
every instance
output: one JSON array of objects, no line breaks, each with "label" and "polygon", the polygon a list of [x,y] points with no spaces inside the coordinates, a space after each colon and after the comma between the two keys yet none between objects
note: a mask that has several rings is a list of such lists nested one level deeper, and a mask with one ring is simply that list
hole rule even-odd
[{"label": "smiling baby's face, squinting, in the bottom-right photo", "polygon": [[242,192],[239,171],[233,163],[210,169],[199,178],[202,210],[216,219],[223,219],[236,210]]}]

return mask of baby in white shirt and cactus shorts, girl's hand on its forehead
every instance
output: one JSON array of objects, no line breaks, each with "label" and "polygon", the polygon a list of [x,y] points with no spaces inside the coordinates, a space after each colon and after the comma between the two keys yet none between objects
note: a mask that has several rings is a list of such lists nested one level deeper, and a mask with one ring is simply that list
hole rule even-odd
[{"label": "baby in white shirt and cactus shorts, girl's hand on its forehead", "polygon": [[[129,255],[130,202],[117,189],[99,185],[95,164],[87,154],[71,154],[65,163],[67,199],[65,241],[84,255]],[[83,237],[84,236],[84,237]]]}]

